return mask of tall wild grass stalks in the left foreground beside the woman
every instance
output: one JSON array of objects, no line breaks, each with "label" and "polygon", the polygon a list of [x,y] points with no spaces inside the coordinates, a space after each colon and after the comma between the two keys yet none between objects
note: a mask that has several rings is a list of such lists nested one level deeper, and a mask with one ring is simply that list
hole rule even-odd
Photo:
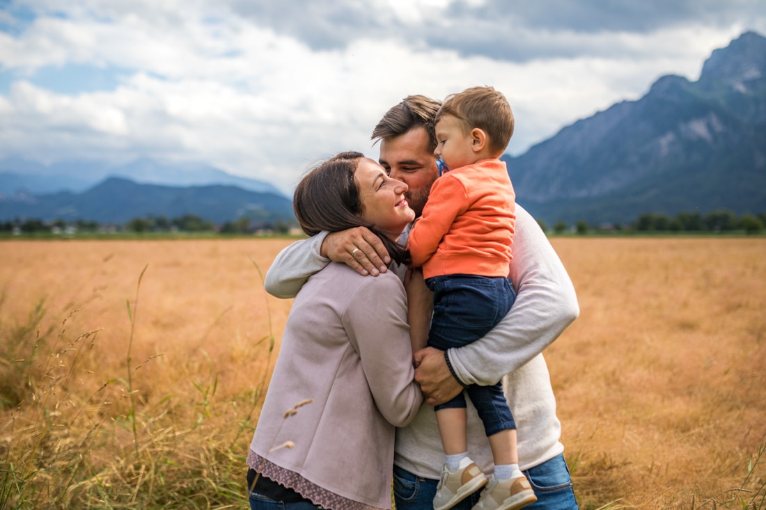
[{"label": "tall wild grass stalks in the left foreground beside the woman", "polygon": [[[209,358],[207,374],[185,381],[196,397],[163,395],[152,381],[136,377],[147,361],[162,356],[136,364],[133,353],[146,269],[133,302],[127,301],[125,379],[110,378],[83,393],[82,381],[103,371],[93,354],[100,329],[74,338],[68,332],[79,310],[61,322],[53,342],[53,329],[44,328],[43,300],[25,324],[0,324],[2,335],[10,337],[0,350],[0,412],[9,417],[0,424],[0,508],[247,505],[243,435],[254,430],[268,370],[259,374],[254,391],[247,388],[229,400],[218,399],[219,371]],[[270,322],[268,334],[250,345],[253,355],[264,342],[269,367],[275,344]],[[22,382],[13,385],[17,380]]]}]

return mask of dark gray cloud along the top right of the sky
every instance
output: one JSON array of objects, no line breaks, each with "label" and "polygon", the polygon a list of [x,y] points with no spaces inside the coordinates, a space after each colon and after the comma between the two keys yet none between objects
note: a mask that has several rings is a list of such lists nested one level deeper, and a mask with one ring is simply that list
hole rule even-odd
[{"label": "dark gray cloud along the top right of the sky", "polygon": [[[424,26],[430,46],[462,56],[527,62],[538,58],[609,57],[640,54],[614,34],[650,34],[669,27],[707,25],[748,28],[766,16],[766,2],[684,0],[666,2],[584,1],[487,2],[453,4],[439,28]],[[576,43],[576,44],[574,44]]]}]

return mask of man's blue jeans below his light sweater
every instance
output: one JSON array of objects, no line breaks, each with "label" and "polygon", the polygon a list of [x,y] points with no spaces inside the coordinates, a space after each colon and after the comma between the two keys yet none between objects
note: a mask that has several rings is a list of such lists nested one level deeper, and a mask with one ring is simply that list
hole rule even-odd
[{"label": "man's blue jeans below his light sweater", "polygon": [[[572,489],[569,469],[564,456],[555,456],[524,475],[535,491],[537,501],[525,510],[577,510],[575,491]],[[394,501],[396,510],[434,510],[434,495],[439,480],[415,476],[411,472],[394,466]],[[470,510],[479,502],[481,491],[476,491],[458,503],[454,510]]]}]

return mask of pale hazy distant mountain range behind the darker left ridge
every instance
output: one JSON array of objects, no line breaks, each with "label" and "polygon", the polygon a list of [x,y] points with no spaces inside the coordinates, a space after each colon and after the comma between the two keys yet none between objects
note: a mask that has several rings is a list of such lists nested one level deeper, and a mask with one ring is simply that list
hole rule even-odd
[{"label": "pale hazy distant mountain range behind the darker left ridge", "polygon": [[205,163],[159,162],[137,159],[112,166],[95,160],[61,161],[50,166],[19,158],[0,160],[0,195],[24,191],[33,195],[57,191],[86,191],[108,177],[122,177],[141,184],[167,186],[231,185],[249,191],[283,195],[268,182],[231,175]]}]

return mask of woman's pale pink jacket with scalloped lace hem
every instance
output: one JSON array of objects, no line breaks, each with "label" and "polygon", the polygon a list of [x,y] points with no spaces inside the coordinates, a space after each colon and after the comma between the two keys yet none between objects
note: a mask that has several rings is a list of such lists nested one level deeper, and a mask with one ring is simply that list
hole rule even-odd
[{"label": "woman's pale pink jacket with scalloped lace hem", "polygon": [[330,263],[293,302],[247,465],[332,510],[391,508],[394,430],[423,402],[413,378],[401,280]]}]

